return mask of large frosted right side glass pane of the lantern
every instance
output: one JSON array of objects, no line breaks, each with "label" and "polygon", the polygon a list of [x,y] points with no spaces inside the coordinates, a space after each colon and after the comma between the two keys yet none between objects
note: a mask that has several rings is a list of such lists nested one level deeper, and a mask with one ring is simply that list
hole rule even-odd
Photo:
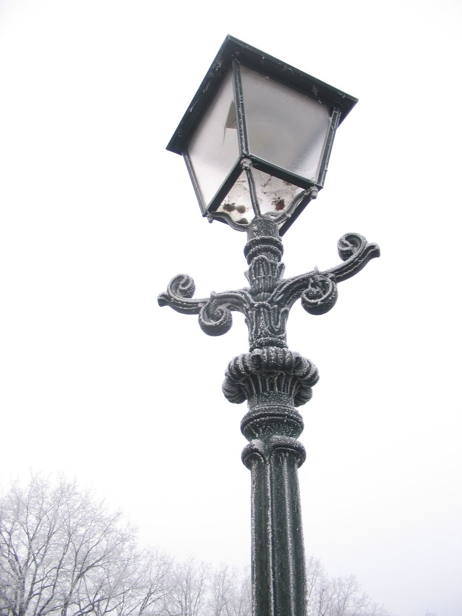
[{"label": "large frosted right side glass pane of the lantern", "polygon": [[241,65],[251,154],[317,182],[331,110]]}]

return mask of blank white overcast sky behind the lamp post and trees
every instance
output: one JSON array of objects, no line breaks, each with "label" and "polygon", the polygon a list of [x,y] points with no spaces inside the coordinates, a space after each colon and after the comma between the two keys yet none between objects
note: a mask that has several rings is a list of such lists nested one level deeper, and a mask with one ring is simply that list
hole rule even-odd
[{"label": "blank white overcast sky behind the lamp post and trees", "polygon": [[462,613],[460,2],[0,0],[0,480],[65,471],[145,541],[249,561],[245,406],[209,338],[156,296],[246,285],[165,146],[227,33],[359,97],[286,275],[383,256],[288,342],[321,381],[302,414],[307,551],[392,614]]}]

